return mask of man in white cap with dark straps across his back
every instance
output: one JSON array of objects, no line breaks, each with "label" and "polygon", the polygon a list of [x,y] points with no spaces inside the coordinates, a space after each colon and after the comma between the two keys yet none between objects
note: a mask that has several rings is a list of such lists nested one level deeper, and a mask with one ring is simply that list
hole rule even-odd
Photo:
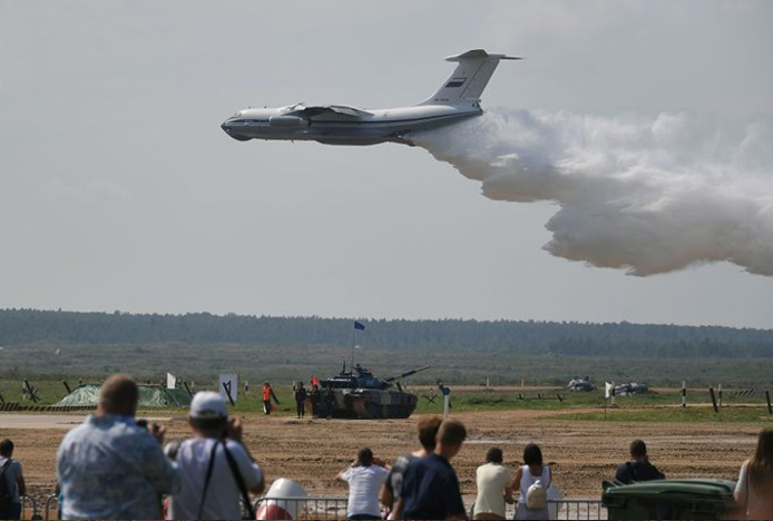
[{"label": "man in white cap with dark straps across his back", "polygon": [[205,391],[190,402],[188,425],[194,439],[177,450],[180,491],[172,497],[169,519],[242,519],[239,498],[248,503],[248,492],[264,486],[261,468],[242,444],[242,424],[228,417],[223,396]]}]

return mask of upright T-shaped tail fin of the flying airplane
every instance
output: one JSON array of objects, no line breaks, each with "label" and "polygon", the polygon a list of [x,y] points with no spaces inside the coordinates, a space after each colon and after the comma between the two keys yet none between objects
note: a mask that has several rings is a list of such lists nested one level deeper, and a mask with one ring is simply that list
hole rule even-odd
[{"label": "upright T-shaped tail fin of the flying airplane", "polygon": [[505,55],[489,55],[483,49],[473,49],[461,55],[449,56],[446,61],[459,62],[456,70],[436,94],[419,105],[478,102],[491,75],[497,70],[499,61],[521,59]]}]

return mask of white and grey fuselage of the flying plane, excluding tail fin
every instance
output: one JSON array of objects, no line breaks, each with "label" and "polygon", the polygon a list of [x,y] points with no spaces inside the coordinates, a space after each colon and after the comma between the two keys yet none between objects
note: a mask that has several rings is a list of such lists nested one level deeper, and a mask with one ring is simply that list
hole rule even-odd
[{"label": "white and grey fuselage of the flying plane, excluding tail fin", "polygon": [[241,141],[282,139],[311,140],[325,145],[376,145],[390,141],[413,145],[410,138],[413,132],[431,130],[482,114],[478,102],[467,102],[378,110],[336,106],[345,109],[345,112],[325,111],[309,118],[293,115],[300,106],[244,109],[225,120],[222,128],[228,136]]}]

